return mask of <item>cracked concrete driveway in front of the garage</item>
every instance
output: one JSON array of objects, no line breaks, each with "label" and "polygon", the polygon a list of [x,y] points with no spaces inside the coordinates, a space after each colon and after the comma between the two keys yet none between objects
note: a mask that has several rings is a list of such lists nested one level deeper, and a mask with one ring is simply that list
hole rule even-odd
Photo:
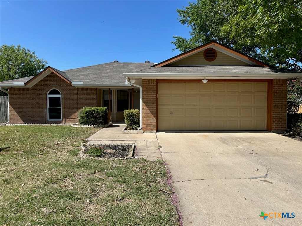
[{"label": "cracked concrete driveway in front of the garage", "polygon": [[[302,143],[275,133],[159,132],[184,225],[302,225]],[[261,212],[295,218],[260,218]],[[278,214],[276,214],[278,217]]]}]

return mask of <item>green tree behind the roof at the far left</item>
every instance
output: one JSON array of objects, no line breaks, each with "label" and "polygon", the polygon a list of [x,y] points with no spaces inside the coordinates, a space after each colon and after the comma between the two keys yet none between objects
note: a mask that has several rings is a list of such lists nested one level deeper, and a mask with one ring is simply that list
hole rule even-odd
[{"label": "green tree behind the roof at the far left", "polygon": [[25,47],[0,46],[0,81],[34,76],[46,67],[47,61]]}]

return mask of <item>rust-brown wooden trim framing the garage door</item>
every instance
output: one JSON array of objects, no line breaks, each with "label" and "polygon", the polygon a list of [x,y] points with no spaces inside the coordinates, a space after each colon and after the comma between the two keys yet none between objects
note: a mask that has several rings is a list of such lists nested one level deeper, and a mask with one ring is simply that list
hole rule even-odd
[{"label": "rust-brown wooden trim framing the garage door", "polygon": [[[184,79],[184,80],[174,80],[174,79],[156,79],[156,131],[158,131],[158,83],[189,83],[197,82],[200,83],[201,79]],[[273,108],[273,80],[272,79],[209,79],[208,82],[267,82],[267,123],[266,129],[268,131],[272,130],[272,108]]]}]

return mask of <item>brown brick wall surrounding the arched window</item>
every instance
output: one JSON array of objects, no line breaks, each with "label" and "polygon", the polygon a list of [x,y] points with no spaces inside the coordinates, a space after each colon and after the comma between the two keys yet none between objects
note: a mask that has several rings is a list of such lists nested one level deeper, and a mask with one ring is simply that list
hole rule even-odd
[{"label": "brown brick wall surrounding the arched window", "polygon": [[[47,120],[47,92],[58,89],[62,94],[62,120]],[[9,123],[75,123],[78,111],[96,106],[96,88],[76,88],[53,72],[31,88],[9,89]]]}]

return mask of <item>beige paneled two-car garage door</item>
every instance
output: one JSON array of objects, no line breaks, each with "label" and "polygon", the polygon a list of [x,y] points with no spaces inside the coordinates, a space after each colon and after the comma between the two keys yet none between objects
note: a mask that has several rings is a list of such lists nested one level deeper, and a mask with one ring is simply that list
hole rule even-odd
[{"label": "beige paneled two-car garage door", "polygon": [[158,130],[266,130],[267,82],[158,83]]}]

